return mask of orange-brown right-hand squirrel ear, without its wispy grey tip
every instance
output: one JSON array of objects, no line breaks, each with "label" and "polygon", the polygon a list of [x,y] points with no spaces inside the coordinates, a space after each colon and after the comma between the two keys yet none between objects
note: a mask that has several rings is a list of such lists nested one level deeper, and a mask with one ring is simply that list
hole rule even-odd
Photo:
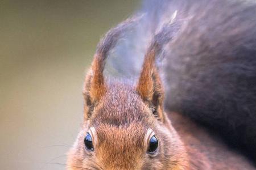
[{"label": "orange-brown right-hand squirrel ear, without its wispy grey tip", "polygon": [[153,114],[160,121],[164,121],[162,81],[155,66],[155,51],[157,45],[151,45],[145,55],[142,72],[137,84],[137,92],[145,103],[152,108]]}]

